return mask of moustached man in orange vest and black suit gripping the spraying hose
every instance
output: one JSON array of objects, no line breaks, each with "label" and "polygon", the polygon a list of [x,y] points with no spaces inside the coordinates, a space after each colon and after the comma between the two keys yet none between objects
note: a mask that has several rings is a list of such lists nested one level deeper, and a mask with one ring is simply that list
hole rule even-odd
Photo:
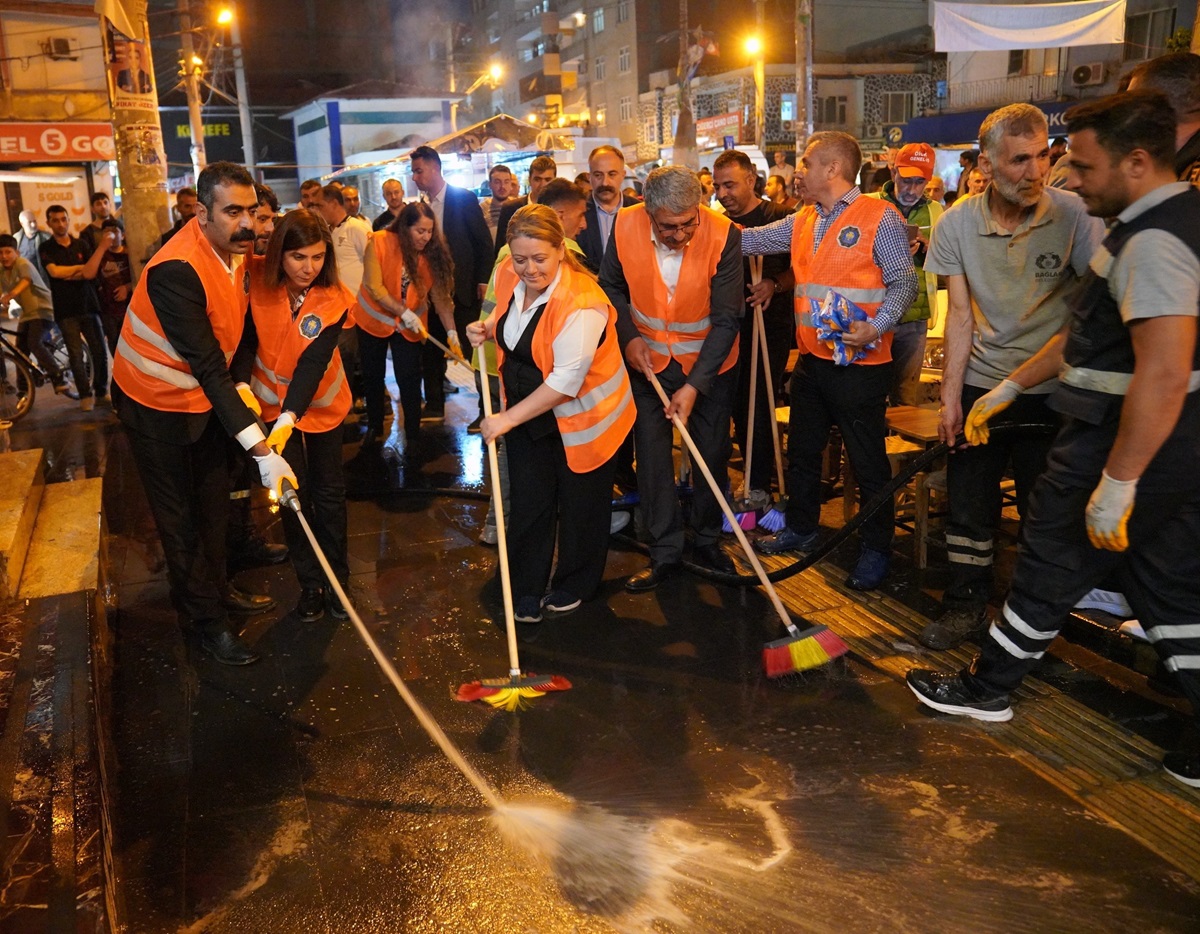
[{"label": "moustached man in orange vest and black suit gripping the spraying hose", "polygon": [[172,605],[205,653],[223,665],[248,665],[258,655],[230,628],[227,610],[227,438],[250,451],[263,485],[277,495],[296,478],[266,447],[228,369],[246,318],[242,261],[254,245],[254,180],[241,166],[214,162],[196,187],[196,217],[146,264],[134,288],[113,377],[162,539]]}]

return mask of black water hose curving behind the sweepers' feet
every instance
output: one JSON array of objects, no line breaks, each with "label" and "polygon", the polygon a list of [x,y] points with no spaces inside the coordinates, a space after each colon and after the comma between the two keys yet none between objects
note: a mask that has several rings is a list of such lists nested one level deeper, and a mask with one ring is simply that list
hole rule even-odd
[{"label": "black water hose curving behind the sweepers' feet", "polygon": [[[1025,432],[1057,432],[1057,425],[1049,425],[1042,421],[1033,423],[1009,423],[989,426],[992,435],[1008,435],[1009,432],[1025,431]],[[955,438],[954,447],[966,444],[966,438],[959,435]],[[776,570],[769,571],[767,579],[772,583],[779,583],[788,577],[794,577],[797,574],[808,570],[818,561],[823,561],[828,557],[835,549],[838,549],[846,539],[854,534],[859,527],[875,513],[882,509],[886,504],[892,503],[892,497],[896,495],[896,491],[906,486],[908,481],[916,477],[918,473],[924,471],[926,467],[937,462],[940,457],[943,457],[950,450],[950,445],[943,442],[935,444],[913,460],[904,471],[898,473],[892,480],[884,486],[877,496],[875,496],[869,503],[864,503],[858,513],[851,519],[846,525],[839,528],[827,541],[822,543],[818,549],[810,551],[804,557],[798,561],[792,562],[786,568],[778,568]],[[460,499],[479,499],[488,501],[491,495],[482,490],[460,490],[452,486],[437,486],[426,489],[401,489],[391,490],[392,493],[404,493],[408,496],[444,496],[455,497]],[[622,541],[635,547],[646,551],[647,547],[637,539],[630,535],[614,535]],[[761,583],[758,575],[756,574],[725,574],[719,570],[713,570],[712,568],[706,568],[702,564],[696,564],[690,561],[683,562],[683,567],[697,577],[703,577],[713,583],[724,583],[732,587],[754,587]]]}]

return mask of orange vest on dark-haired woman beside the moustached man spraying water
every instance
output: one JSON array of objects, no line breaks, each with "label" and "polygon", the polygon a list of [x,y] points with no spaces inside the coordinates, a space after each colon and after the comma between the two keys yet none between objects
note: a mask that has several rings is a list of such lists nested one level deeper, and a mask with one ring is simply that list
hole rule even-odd
[{"label": "orange vest on dark-haired woman beside the moustached man spraying water", "polygon": [[[258,348],[250,388],[263,405],[263,420],[274,421],[280,417],[300,355],[325,328],[337,327],[354,304],[354,295],[342,285],[313,286],[305,294],[300,311],[293,315],[287,289],[268,285],[263,267],[262,257],[251,259],[250,313],[258,331]],[[332,431],[349,411],[350,387],[342,369],[342,354],[335,348],[308,408],[296,420],[296,427],[308,432]]]}]

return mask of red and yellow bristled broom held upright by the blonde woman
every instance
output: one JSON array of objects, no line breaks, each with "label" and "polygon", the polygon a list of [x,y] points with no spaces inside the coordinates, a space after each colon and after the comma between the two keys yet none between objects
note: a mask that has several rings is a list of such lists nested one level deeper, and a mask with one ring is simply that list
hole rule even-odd
[{"label": "red and yellow bristled broom held upright by the blonde woman", "polygon": [[[440,341],[431,340],[455,359],[467,363],[461,354],[454,353]],[[484,402],[484,415],[491,418],[492,393],[488,388],[487,366],[479,367],[479,376],[482,381],[480,397]],[[533,697],[540,697],[548,691],[570,690],[571,682],[562,675],[534,675],[532,671],[521,671],[521,663],[517,658],[517,624],[512,612],[512,581],[509,576],[509,540],[504,528],[504,498],[500,495],[500,462],[496,453],[494,438],[487,442],[487,466],[492,478],[492,508],[496,510],[496,546],[500,556],[500,591],[504,594],[504,633],[509,643],[509,676],[467,682],[460,685],[455,693],[455,700],[481,700],[497,710],[515,711]]]}]

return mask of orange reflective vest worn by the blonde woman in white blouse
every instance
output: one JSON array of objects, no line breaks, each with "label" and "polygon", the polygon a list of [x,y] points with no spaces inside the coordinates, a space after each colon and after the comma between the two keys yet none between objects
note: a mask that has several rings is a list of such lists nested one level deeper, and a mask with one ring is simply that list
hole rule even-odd
[{"label": "orange reflective vest worn by the blonde woman in white blouse", "polygon": [[[583,378],[578,395],[554,406],[558,433],[563,437],[566,466],[575,473],[587,473],[604,465],[625,441],[634,427],[636,409],[629,373],[617,341],[617,311],[595,280],[563,263],[562,279],[546,304],[533,335],[533,360],[548,377],[554,370],[554,339],[566,321],[580,309],[604,309],[608,315],[604,340],[596,347],[592,365]],[[496,330],[504,327],[504,316],[512,304],[517,287],[512,259],[505,258],[496,268]],[[496,355],[504,367],[504,351],[499,345]]]}]

